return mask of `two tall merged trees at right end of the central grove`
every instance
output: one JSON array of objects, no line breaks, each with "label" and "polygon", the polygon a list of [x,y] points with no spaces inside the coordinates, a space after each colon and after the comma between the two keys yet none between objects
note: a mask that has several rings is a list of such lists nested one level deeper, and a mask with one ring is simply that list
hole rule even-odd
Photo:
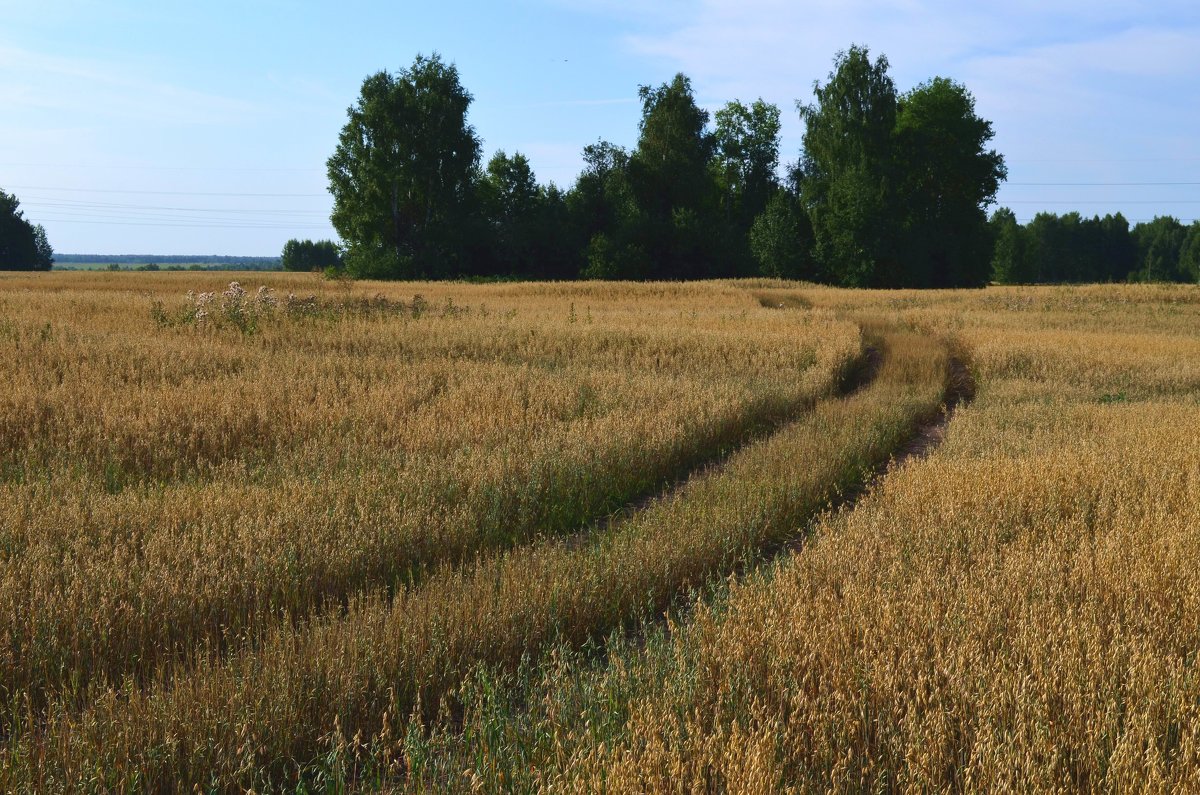
[{"label": "two tall merged trees at right end of the central grove", "polygon": [[887,59],[851,47],[814,92],[799,106],[798,181],[828,275],[853,287],[986,283],[984,208],[1006,169],[966,88],[934,78],[900,96]]}]

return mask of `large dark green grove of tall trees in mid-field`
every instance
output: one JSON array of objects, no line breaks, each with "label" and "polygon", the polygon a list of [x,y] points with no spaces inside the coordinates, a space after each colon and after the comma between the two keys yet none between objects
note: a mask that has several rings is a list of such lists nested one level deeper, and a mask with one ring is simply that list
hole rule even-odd
[{"label": "large dark green grove of tall trees in mid-field", "polygon": [[[360,277],[708,279],[769,275],[857,287],[982,286],[985,208],[1006,177],[967,89],[901,92],[884,56],[839,53],[810,103],[798,162],[780,173],[780,109],[700,107],[677,74],[638,89],[637,144],[598,141],[562,190],[528,159],[481,162],[470,94],[419,55],[364,80],[328,174],[342,239],[289,241],[284,267]],[[289,256],[289,250],[292,256]]]}]

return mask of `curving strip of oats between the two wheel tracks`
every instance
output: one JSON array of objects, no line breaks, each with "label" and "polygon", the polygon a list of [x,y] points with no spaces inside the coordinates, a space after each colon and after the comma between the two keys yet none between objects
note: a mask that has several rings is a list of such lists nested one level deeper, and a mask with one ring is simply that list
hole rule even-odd
[{"label": "curving strip of oats between the two wheel tracks", "polygon": [[515,667],[547,642],[582,644],[653,616],[794,537],[936,413],[944,347],[912,334],[883,347],[863,391],[820,402],[612,528],[482,560],[394,600],[367,596],[224,663],[97,697],[78,713],[52,711],[11,745],[13,772],[106,789],[294,785],[335,727],[377,736],[422,705],[436,713],[479,663]]}]

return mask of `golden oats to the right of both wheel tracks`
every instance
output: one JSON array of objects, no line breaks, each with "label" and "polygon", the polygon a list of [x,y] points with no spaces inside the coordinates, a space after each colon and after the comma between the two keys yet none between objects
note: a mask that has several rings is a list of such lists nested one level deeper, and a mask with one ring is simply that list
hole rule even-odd
[{"label": "golden oats to the right of both wheel tracks", "polygon": [[481,671],[409,787],[1200,788],[1200,291],[802,294],[967,346],[944,446],[670,634]]}]

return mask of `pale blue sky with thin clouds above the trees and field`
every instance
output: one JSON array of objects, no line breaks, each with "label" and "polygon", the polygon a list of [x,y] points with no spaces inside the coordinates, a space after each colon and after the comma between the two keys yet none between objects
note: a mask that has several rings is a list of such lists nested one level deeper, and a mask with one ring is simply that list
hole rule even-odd
[{"label": "pale blue sky with thin clouds above the trees and field", "polygon": [[[784,112],[796,160],[836,50],[901,90],[958,79],[1039,210],[1200,219],[1200,4],[1109,0],[0,0],[0,189],[64,253],[277,255],[332,238],[324,162],[367,74],[439,52],[485,157],[569,186],[582,148],[632,145],[638,84]],[[1152,184],[1146,184],[1152,183]]]}]

